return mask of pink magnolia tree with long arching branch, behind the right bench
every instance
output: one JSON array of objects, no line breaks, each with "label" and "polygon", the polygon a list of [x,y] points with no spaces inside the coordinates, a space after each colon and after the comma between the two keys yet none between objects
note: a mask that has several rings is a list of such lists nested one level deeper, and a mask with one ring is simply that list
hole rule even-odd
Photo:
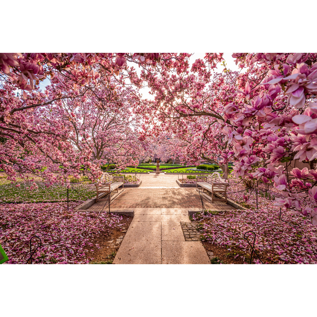
[{"label": "pink magnolia tree with long arching branch, behind the right bench", "polygon": [[[139,112],[148,110],[146,122],[156,123],[150,134],[168,133],[177,140],[174,152],[182,162],[219,164],[227,178],[228,162],[220,155],[229,152],[231,145],[224,140],[218,120],[223,119],[225,105],[235,94],[238,73],[213,74],[222,54],[206,54],[191,68],[189,57],[182,55],[182,68],[143,74],[155,99],[146,100],[146,107],[142,103]],[[143,126],[145,131],[147,127]]]}]

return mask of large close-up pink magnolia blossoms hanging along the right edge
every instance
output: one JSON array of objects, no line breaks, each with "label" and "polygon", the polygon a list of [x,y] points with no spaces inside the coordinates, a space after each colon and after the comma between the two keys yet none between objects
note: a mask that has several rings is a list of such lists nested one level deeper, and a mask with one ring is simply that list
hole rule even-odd
[{"label": "large close-up pink magnolia blossoms hanging along the right edge", "polygon": [[[276,205],[292,208],[317,224],[317,54],[234,54],[246,72],[237,78],[235,99],[225,108],[225,140],[233,151],[235,173],[273,184],[285,198]],[[309,168],[294,168],[294,161]],[[262,167],[257,163],[261,162]],[[292,167],[293,165],[293,167]]]}]

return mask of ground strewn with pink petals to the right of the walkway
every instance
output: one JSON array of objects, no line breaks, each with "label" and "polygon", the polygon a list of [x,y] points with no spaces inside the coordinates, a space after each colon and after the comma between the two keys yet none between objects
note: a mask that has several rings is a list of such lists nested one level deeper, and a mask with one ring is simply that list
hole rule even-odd
[{"label": "ground strewn with pink petals to the right of the walkway", "polygon": [[[311,218],[285,209],[280,217],[280,208],[274,203],[276,197],[282,196],[273,187],[264,191],[265,188],[259,186],[262,190],[258,191],[257,210],[255,189],[247,191],[243,183],[236,183],[230,179],[228,198],[248,209],[194,215],[194,220],[201,223],[199,229],[205,240],[226,248],[228,256],[249,262],[251,248],[243,235],[252,230],[256,233],[255,250],[263,263],[317,263],[317,227],[312,225]],[[312,201],[308,203],[316,207]],[[253,238],[250,234],[251,244]],[[252,262],[261,263],[256,256]]]}]

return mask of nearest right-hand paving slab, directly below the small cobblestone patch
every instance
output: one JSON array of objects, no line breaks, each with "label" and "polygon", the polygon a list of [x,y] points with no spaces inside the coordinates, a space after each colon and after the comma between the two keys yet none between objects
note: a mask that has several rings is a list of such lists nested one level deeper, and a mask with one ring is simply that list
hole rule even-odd
[{"label": "nearest right-hand paving slab, directly below the small cobblestone patch", "polygon": [[162,264],[210,264],[200,241],[162,241]]}]

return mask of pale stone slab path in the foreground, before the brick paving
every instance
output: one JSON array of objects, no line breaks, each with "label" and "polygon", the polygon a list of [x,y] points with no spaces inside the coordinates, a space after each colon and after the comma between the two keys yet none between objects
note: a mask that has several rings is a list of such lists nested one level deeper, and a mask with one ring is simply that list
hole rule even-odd
[{"label": "pale stone slab path in the foreground, before the brick paving", "polygon": [[113,264],[210,264],[200,241],[185,241],[187,210],[135,208]]}]

